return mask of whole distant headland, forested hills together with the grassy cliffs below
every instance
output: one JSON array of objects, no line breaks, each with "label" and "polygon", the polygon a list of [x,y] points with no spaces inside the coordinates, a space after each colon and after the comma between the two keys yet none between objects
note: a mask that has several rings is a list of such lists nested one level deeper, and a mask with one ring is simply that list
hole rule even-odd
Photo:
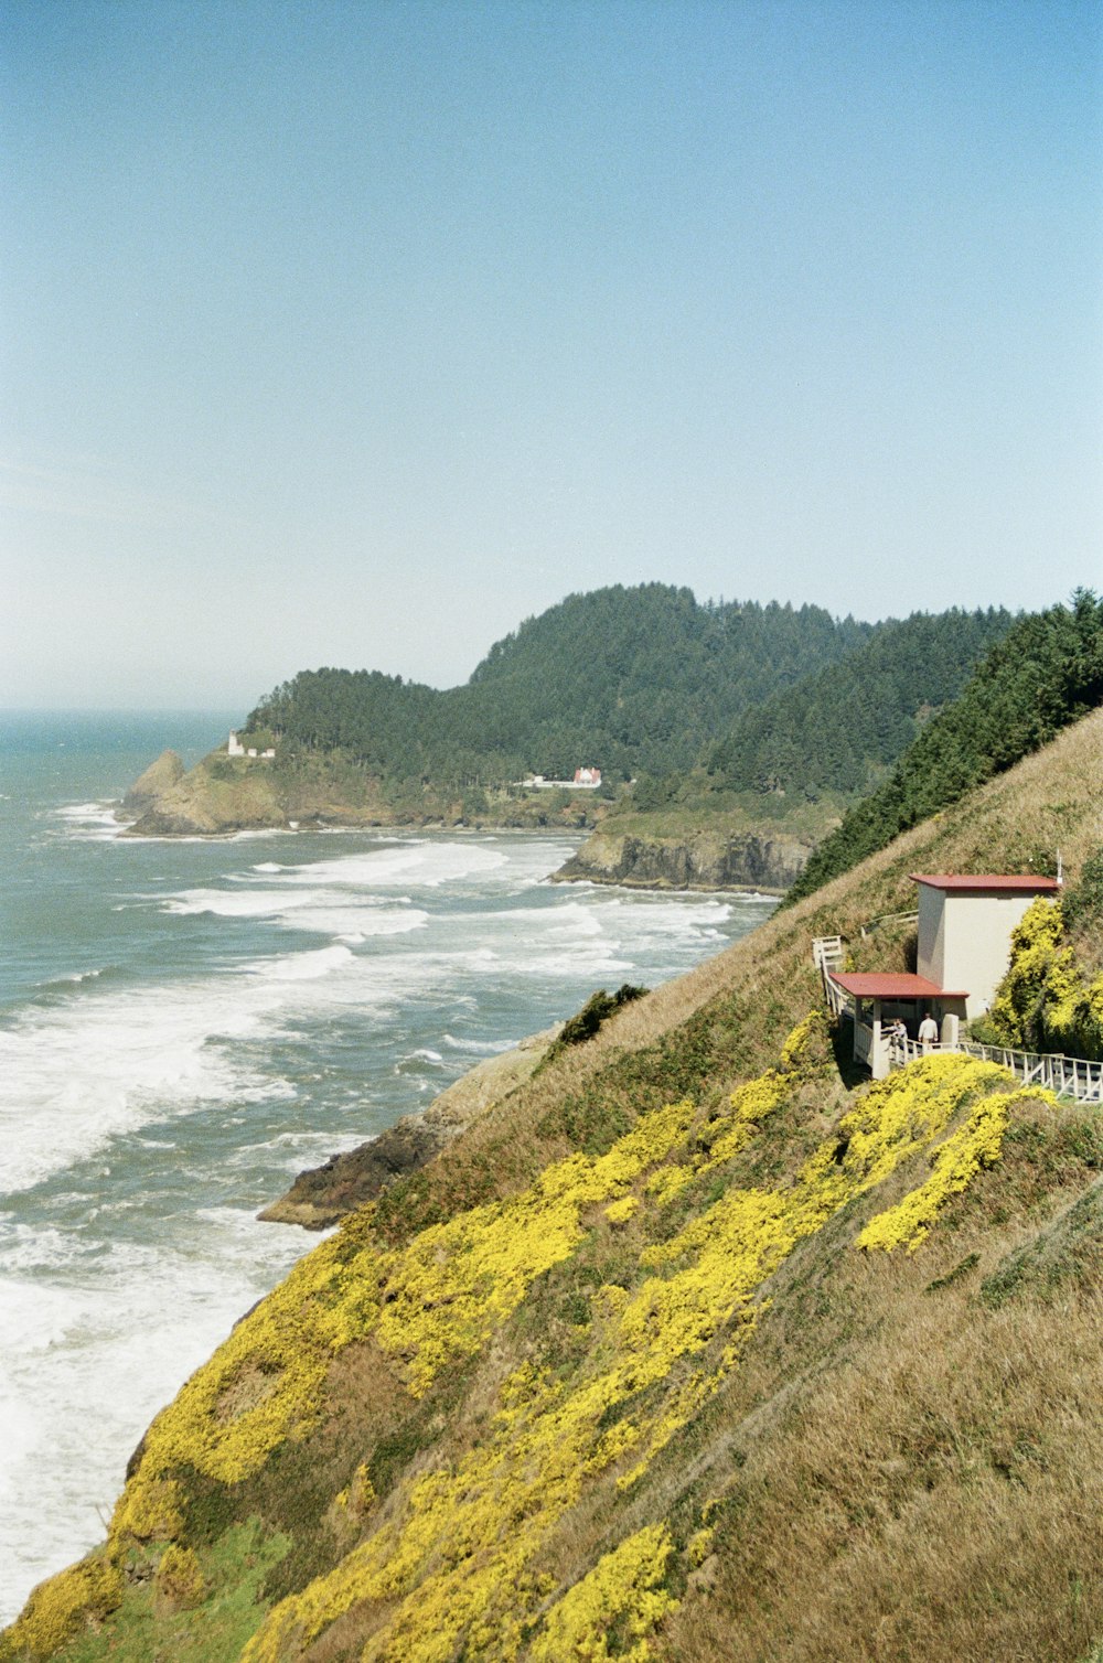
[{"label": "whole distant headland, forested hills together with the grassy cliffs below", "polygon": [[[616,805],[617,833],[665,836],[660,815],[705,835],[675,861],[690,883],[782,886],[1008,624],[1003,612],[953,610],[873,625],[819,607],[700,605],[662,584],[601,589],[524,622],[448,692],[374,670],[303,670],[248,717],[243,738],[275,745],[271,765],[211,753],[178,778],[161,758],[128,802],[145,803],[141,835],[577,830]],[[571,780],[584,763],[602,770],[601,790],[514,787],[532,772]],[[617,802],[627,780],[631,797]],[[770,840],[772,853],[747,835]],[[664,881],[642,866],[636,878]]]}]

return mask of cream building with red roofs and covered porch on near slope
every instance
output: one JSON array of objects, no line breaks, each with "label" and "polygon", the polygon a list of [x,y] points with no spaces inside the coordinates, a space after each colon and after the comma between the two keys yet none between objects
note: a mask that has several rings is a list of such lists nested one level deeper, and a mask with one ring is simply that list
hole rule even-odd
[{"label": "cream building with red roofs and covered porch on near slope", "polygon": [[1056,878],[1005,873],[912,873],[912,881],[918,885],[915,973],[825,968],[825,980],[853,1001],[853,1054],[873,1079],[888,1073],[888,1031],[897,1023],[917,1039],[920,1021],[932,1016],[940,1043],[958,1043],[960,1023],[992,1004],[1015,925],[1040,895],[1060,890]]}]

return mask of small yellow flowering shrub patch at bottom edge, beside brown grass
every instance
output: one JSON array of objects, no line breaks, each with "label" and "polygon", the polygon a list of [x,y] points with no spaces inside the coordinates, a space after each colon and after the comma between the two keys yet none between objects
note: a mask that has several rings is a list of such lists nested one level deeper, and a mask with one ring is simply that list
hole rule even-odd
[{"label": "small yellow flowering shrub patch at bottom edge, beside brown grass", "polygon": [[[645,1636],[672,1611],[677,1600],[662,1587],[674,1543],[662,1525],[645,1525],[567,1588],[552,1606],[547,1626],[531,1648],[532,1663],[567,1663],[569,1658],[619,1656],[642,1663]],[[636,1645],[609,1650],[609,1630],[617,1626]]]}]

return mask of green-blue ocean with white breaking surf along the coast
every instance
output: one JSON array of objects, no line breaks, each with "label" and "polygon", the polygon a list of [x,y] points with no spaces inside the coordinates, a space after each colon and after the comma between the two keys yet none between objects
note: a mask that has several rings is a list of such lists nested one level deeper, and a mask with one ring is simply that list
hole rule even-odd
[{"label": "green-blue ocean with white breaking surf along the coast", "polygon": [[0,713],[0,1623],[316,1242],[255,1217],[298,1171],[774,905],[551,885],[554,835],[120,838],[160,750],[236,718]]}]

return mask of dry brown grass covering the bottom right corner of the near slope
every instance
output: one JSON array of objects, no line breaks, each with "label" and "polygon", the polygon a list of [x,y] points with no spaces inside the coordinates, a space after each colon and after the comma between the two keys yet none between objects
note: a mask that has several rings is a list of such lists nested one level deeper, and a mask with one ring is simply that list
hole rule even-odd
[{"label": "dry brown grass covering the bottom right corner of the near slope", "polygon": [[1008,1159],[912,1259],[842,1241],[794,1256],[724,1437],[672,1478],[724,1500],[657,1656],[1088,1656],[1103,1631],[1100,1209],[1065,1281],[995,1309],[980,1297],[1016,1249],[1066,1241],[1090,1172],[1046,1192],[1071,1179],[1063,1159]]}]

